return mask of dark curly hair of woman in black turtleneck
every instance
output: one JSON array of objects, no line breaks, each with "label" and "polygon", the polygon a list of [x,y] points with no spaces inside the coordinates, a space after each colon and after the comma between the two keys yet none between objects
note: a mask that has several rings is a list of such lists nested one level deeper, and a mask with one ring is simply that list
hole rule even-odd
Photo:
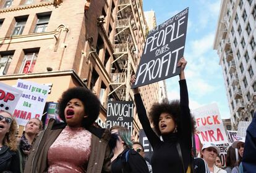
[{"label": "dark curly hair of woman in black turtleneck", "polygon": [[[159,117],[161,113],[169,113],[172,116],[174,123],[176,125],[179,124],[181,116],[179,100],[171,100],[171,102],[169,102],[168,99],[164,99],[163,102],[154,103],[151,107],[149,117],[153,122],[155,131],[158,135],[161,135],[160,129],[158,127]],[[177,127],[177,130],[179,131],[179,126]]]}]

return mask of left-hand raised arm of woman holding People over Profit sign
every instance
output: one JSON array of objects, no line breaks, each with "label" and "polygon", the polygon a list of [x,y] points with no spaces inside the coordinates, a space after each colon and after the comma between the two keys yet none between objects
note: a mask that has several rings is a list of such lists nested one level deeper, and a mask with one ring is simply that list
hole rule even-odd
[{"label": "left-hand raised arm of woman holding People over Profit sign", "polygon": [[[135,80],[136,78],[133,75],[132,78],[130,79],[130,82],[134,83]],[[143,105],[143,101],[142,101],[142,97],[140,96],[139,89],[135,88],[133,89],[133,92],[134,92],[134,100],[137,108],[137,113],[140,119],[140,123],[142,124],[143,130],[145,131],[145,134],[147,135],[147,138],[151,146],[154,148],[155,144],[158,142],[161,142],[161,140],[150,126],[150,121],[148,120],[147,111]]]}]

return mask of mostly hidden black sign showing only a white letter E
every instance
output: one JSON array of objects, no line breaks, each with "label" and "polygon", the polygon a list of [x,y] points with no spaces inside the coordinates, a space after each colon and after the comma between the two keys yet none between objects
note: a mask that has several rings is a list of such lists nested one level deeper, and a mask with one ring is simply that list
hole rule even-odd
[{"label": "mostly hidden black sign showing only a white letter E", "polygon": [[153,155],[153,148],[150,145],[150,142],[148,141],[148,137],[146,136],[143,129],[140,129],[139,134],[140,134],[139,142],[143,145],[145,158],[147,158],[148,161],[151,161],[151,156]]}]

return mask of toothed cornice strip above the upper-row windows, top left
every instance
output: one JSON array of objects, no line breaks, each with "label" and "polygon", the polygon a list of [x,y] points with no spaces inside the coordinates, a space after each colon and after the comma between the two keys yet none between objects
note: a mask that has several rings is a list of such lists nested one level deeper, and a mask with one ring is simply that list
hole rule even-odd
[{"label": "toothed cornice strip above the upper-row windows, top left", "polygon": [[38,4],[29,4],[27,6],[10,7],[10,8],[6,8],[6,9],[1,9],[0,14],[5,13],[5,12],[14,12],[14,11],[18,11],[18,10],[34,9],[34,8],[38,8],[38,7],[45,7],[45,6],[52,6],[52,5],[54,5],[54,1],[41,2]]}]

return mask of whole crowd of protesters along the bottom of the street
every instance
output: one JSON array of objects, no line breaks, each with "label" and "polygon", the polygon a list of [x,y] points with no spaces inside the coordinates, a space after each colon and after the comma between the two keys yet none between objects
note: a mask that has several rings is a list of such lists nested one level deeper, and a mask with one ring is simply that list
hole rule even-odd
[{"label": "whole crowd of protesters along the bottom of the street", "polygon": [[[15,118],[7,111],[0,111],[0,172],[254,172],[256,117],[247,129],[246,139],[237,138],[229,147],[226,167],[222,167],[220,149],[214,143],[204,143],[201,157],[194,156],[194,124],[184,73],[186,65],[184,58],[177,63],[181,67],[181,99],[155,103],[148,115],[139,88],[133,89],[140,123],[153,148],[150,161],[145,158],[143,145],[132,141],[126,127],[93,126],[100,114],[100,100],[90,90],[74,87],[67,89],[59,99],[59,117],[63,123],[50,119],[42,131],[40,119],[32,118],[19,141],[15,136]],[[135,80],[132,76],[131,83]]]}]

